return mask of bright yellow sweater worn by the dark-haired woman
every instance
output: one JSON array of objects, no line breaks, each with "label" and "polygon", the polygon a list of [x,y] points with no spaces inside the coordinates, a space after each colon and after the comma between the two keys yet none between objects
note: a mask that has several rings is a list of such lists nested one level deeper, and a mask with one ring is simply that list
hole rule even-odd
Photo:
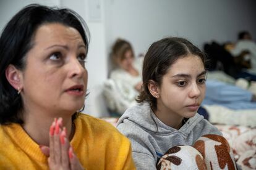
[{"label": "bright yellow sweater worn by the dark-haired woman", "polygon": [[[86,169],[135,169],[129,140],[106,121],[75,119],[71,140]],[[49,169],[47,158],[19,124],[0,125],[0,169]]]}]

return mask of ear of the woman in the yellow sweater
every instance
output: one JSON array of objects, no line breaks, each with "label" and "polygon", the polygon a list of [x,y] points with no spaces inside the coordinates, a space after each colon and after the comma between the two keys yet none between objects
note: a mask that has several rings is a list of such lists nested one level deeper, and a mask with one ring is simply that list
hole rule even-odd
[{"label": "ear of the woman in the yellow sweater", "polygon": [[14,65],[9,65],[6,68],[6,79],[14,89],[17,89],[17,91],[23,89],[22,72],[15,68]]}]

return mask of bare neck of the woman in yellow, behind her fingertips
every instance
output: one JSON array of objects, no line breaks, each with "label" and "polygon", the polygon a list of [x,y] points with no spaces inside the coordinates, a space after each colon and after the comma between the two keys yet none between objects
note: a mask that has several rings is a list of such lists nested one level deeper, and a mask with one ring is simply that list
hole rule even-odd
[{"label": "bare neck of the woman in yellow, behind her fingertips", "polygon": [[[35,113],[35,112],[33,112]],[[54,121],[54,113],[44,114],[43,112],[36,112],[32,114],[25,112],[23,113],[23,129],[27,132],[38,145],[49,146],[49,127]],[[66,114],[63,114],[66,115]],[[58,115],[56,115],[56,118]],[[62,116],[62,127],[67,129],[67,137],[70,136],[72,130],[72,118],[71,116]]]}]

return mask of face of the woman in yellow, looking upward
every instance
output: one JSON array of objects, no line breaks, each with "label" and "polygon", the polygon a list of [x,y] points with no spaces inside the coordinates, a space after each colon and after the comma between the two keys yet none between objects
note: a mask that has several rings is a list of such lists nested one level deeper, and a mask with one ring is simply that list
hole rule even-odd
[{"label": "face of the woman in yellow, looking upward", "polygon": [[87,89],[86,54],[74,28],[58,23],[40,26],[21,74],[25,108],[80,110]]}]

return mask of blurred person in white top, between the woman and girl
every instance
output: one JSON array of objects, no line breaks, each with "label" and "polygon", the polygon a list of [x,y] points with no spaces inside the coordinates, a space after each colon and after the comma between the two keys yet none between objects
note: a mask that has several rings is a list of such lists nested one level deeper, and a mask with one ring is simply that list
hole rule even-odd
[{"label": "blurred person in white top, between the woman and girl", "polygon": [[132,86],[140,92],[142,86],[142,59],[135,59],[130,43],[117,39],[112,47],[112,59],[116,69],[111,71],[110,78]]}]

